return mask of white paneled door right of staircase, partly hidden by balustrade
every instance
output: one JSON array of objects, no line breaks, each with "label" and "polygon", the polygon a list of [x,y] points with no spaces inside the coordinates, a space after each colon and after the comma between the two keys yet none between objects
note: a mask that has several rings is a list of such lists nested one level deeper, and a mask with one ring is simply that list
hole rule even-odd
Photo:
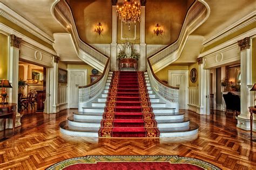
[{"label": "white paneled door right of staircase, partly hidden by balustrade", "polygon": [[168,84],[179,87],[179,109],[188,109],[188,70],[168,70]]}]

